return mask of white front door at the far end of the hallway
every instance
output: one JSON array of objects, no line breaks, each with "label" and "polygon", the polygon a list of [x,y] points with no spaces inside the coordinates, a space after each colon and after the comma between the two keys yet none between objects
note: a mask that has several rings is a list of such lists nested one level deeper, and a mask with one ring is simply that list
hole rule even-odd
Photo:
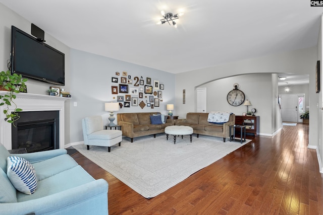
[{"label": "white front door at the far end of the hallway", "polygon": [[282,97],[282,118],[285,122],[298,121],[298,96],[297,95],[281,95]]}]

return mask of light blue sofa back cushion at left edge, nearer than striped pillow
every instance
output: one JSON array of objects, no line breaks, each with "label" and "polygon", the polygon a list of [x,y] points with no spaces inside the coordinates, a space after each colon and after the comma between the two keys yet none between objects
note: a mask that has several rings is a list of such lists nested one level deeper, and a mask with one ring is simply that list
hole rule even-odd
[{"label": "light blue sofa back cushion at left edge, nearer than striped pillow", "polygon": [[0,203],[17,202],[17,190],[10,182],[6,172],[2,169],[0,169],[0,190]]}]

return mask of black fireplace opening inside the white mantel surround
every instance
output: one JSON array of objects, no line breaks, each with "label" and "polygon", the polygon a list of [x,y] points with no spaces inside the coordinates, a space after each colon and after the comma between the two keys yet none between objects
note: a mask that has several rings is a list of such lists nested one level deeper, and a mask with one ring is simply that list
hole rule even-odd
[{"label": "black fireplace opening inside the white mantel surround", "polygon": [[59,149],[59,111],[20,112],[12,125],[12,149],[28,153]]}]

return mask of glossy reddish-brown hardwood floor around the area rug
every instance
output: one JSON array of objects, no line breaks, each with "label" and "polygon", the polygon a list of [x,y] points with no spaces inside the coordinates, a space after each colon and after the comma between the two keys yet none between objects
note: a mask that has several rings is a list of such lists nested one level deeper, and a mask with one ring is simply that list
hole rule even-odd
[{"label": "glossy reddish-brown hardwood floor around the area rug", "polygon": [[284,126],[151,199],[80,153],[72,157],[109,183],[109,214],[323,214],[323,179],[307,146],[308,125]]}]

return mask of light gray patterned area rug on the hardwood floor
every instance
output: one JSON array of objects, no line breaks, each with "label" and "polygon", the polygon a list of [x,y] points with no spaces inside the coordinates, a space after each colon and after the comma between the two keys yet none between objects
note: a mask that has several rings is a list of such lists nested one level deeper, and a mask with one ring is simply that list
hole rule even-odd
[{"label": "light gray patterned area rug on the hardwood floor", "polygon": [[223,158],[242,147],[243,144],[228,139],[193,134],[183,139],[173,135],[166,140],[166,134],[134,138],[131,143],[124,137],[121,147],[73,146],[86,158],[114,175],[145,198],[154,197],[188,178],[193,173]]}]

